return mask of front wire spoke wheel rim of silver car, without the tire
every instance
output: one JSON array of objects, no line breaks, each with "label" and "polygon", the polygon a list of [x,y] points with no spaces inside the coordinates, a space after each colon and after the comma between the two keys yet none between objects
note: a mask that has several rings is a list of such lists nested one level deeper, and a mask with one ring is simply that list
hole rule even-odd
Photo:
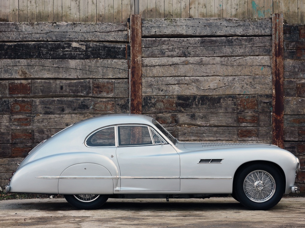
[{"label": "front wire spoke wheel rim of silver car, without the tire", "polygon": [[246,196],[255,202],[265,202],[270,199],[276,189],[274,178],[263,170],[249,173],[244,180]]}]

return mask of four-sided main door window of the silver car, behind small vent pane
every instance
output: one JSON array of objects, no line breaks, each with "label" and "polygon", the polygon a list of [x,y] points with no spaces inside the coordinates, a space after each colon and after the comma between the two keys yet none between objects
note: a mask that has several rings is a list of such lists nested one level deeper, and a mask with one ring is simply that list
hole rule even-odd
[{"label": "four-sided main door window of the silver car, behind small vent pane", "polygon": [[119,146],[152,145],[147,126],[118,126]]}]

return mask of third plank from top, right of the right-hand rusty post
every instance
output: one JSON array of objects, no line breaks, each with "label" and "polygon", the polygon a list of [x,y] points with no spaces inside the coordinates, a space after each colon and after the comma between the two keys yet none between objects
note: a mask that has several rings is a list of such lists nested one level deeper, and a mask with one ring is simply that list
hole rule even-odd
[{"label": "third plank from top, right of the right-hand rusty post", "polygon": [[285,59],[284,78],[305,78],[304,60]]}]

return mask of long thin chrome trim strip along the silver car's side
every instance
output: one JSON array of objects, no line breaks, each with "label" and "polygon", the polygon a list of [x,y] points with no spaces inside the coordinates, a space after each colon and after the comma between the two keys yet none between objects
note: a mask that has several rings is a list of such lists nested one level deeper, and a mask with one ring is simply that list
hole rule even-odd
[{"label": "long thin chrome trim strip along the silver car's side", "polygon": [[39,179],[231,180],[231,176],[36,176]]}]

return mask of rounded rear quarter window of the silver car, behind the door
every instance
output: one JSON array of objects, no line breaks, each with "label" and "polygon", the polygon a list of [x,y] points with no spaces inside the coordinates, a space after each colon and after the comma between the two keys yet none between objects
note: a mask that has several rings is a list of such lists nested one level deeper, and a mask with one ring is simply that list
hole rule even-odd
[{"label": "rounded rear quarter window of the silver car, behind the door", "polygon": [[86,140],[87,146],[115,146],[114,127],[107,127],[92,134]]}]

